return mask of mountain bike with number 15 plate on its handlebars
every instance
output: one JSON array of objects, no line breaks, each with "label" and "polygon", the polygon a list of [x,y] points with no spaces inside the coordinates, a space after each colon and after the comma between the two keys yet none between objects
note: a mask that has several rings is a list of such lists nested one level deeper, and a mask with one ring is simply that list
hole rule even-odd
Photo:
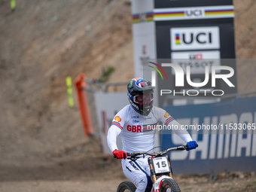
[{"label": "mountain bike with number 15 plate on its handlebars", "polygon": [[[166,151],[160,151],[159,153],[135,152],[126,154],[127,159],[132,161],[137,160],[139,155],[146,154],[151,156],[148,157],[148,165],[150,167],[151,178],[153,181],[153,192],[179,192],[181,190],[179,189],[176,181],[173,179],[169,156],[164,156],[164,154],[167,154],[169,151],[184,151],[187,148],[187,145],[183,145],[177,148],[169,148]],[[129,191],[136,191],[136,186],[131,181],[123,181],[117,187],[117,192]]]}]

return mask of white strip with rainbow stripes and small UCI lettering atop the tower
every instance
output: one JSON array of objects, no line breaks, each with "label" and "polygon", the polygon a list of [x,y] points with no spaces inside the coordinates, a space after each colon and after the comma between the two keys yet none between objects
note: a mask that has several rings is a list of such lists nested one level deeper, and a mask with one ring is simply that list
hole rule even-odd
[{"label": "white strip with rainbow stripes and small UCI lettering atop the tower", "polygon": [[190,7],[190,8],[158,8],[154,9],[154,20],[202,20],[214,18],[233,18],[233,5]]}]

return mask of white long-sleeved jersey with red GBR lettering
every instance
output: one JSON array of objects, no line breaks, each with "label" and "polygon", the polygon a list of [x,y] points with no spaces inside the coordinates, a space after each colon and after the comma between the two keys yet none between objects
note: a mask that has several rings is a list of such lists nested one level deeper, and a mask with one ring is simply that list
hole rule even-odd
[{"label": "white long-sleeved jersey with red GBR lettering", "polygon": [[192,141],[187,131],[181,130],[181,125],[162,108],[153,106],[150,114],[144,116],[137,113],[132,105],[126,105],[114,116],[108,130],[108,147],[111,151],[117,149],[116,140],[120,134],[123,151],[152,151],[158,122],[166,126],[178,126],[178,129],[174,130],[175,133],[186,143]]}]

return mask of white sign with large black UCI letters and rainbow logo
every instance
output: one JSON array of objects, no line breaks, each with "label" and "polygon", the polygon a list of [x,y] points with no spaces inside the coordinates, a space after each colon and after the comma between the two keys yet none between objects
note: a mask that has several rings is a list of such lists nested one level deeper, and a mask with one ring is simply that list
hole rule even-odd
[{"label": "white sign with large black UCI letters and rainbow logo", "polygon": [[171,28],[171,50],[220,49],[218,26]]}]

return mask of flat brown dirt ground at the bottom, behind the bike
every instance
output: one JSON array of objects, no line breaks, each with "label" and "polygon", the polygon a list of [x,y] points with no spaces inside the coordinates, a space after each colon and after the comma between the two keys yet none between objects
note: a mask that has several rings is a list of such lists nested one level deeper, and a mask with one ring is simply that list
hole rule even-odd
[{"label": "flat brown dirt ground at the bottom, behind the bike", "polygon": [[[0,191],[114,192],[126,177],[120,171],[120,160],[101,154],[98,143],[99,139],[93,139],[81,146],[87,151],[69,149],[48,157],[48,162],[1,166]],[[255,172],[222,173],[216,180],[209,175],[174,176],[181,191],[256,191]]]}]

